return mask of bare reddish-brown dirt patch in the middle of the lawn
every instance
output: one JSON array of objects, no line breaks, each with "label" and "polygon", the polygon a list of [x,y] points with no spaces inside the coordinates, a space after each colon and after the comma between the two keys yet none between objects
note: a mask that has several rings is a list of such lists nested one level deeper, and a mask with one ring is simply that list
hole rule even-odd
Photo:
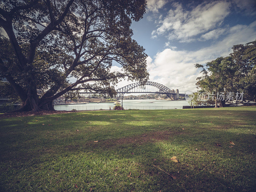
[{"label": "bare reddish-brown dirt patch in the middle of the lawn", "polygon": [[137,144],[141,145],[147,142],[156,142],[156,141],[162,141],[162,140],[169,140],[171,136],[174,135],[180,135],[182,133],[180,132],[174,132],[174,131],[157,131],[157,132],[149,132],[144,133],[142,135],[133,136],[133,137],[124,137],[121,139],[109,139],[105,141],[99,141],[99,142],[90,142],[90,145],[92,146],[102,146],[102,147],[111,147],[116,145],[123,145],[123,144]]}]

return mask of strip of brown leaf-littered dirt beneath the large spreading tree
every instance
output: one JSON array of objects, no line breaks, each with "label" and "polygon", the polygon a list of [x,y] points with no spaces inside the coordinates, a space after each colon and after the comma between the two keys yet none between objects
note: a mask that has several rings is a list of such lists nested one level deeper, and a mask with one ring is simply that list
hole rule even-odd
[{"label": "strip of brown leaf-littered dirt beneath the large spreading tree", "polygon": [[37,115],[53,115],[61,113],[72,113],[73,111],[38,111],[38,112],[16,112],[16,113],[4,113],[0,114],[1,118],[9,117],[25,117],[25,116],[37,116]]}]

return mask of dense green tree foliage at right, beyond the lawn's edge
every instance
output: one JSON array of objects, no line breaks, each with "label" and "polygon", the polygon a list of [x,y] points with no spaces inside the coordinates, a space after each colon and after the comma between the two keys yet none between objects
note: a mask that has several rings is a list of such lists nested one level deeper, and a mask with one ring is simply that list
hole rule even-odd
[{"label": "dense green tree foliage at right, beyond the lawn's edge", "polygon": [[[202,76],[197,78],[197,88],[200,92],[214,93],[215,107],[218,107],[218,92],[224,95],[227,92],[244,93],[243,101],[256,100],[256,75],[253,73],[255,52],[249,52],[256,47],[256,41],[251,45],[234,45],[233,52],[228,57],[219,57],[205,65],[195,64],[196,68],[201,68]],[[227,100],[219,100],[220,107],[225,106]],[[207,100],[204,104],[213,104]]]}]

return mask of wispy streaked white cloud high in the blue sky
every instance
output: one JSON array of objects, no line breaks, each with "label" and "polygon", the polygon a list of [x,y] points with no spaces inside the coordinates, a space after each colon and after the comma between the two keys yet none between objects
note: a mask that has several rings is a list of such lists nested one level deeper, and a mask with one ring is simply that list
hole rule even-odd
[{"label": "wispy streaked white cloud high in the blue sky", "polygon": [[174,9],[169,10],[164,20],[159,21],[160,26],[152,32],[152,36],[167,34],[170,40],[194,41],[193,37],[220,26],[230,13],[230,6],[231,3],[226,1],[204,2],[187,11],[181,3],[173,3]]}]

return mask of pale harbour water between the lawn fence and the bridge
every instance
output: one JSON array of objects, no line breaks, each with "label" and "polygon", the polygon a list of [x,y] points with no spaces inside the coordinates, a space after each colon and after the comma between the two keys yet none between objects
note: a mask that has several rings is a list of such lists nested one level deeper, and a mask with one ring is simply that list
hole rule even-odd
[{"label": "pale harbour water between the lawn fence and the bridge", "polygon": [[[187,106],[187,100],[123,100],[124,109],[182,109],[182,106]],[[100,110],[114,108],[114,102],[112,103],[87,103],[87,104],[74,104],[74,105],[55,105],[56,110]]]}]

